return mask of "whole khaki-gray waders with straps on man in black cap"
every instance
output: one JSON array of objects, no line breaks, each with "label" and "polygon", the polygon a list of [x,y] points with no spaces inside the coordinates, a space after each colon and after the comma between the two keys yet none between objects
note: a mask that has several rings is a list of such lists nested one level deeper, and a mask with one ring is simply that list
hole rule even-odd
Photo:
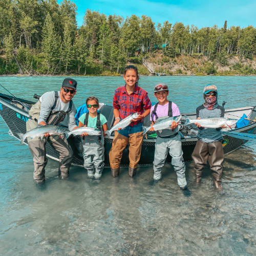
[{"label": "whole khaki-gray waders with straps on man in black cap", "polygon": [[[71,112],[72,100],[70,101],[69,109],[67,112],[64,111],[53,111],[56,107],[58,100],[58,92],[55,92],[55,102],[52,106],[52,111],[46,121],[47,124],[57,125],[64,120],[65,116]],[[40,114],[41,102],[38,100],[30,109],[29,119],[26,123],[27,132],[38,126],[37,119]],[[65,134],[52,135],[49,137],[36,137],[33,139],[28,138],[28,146],[33,156],[34,161],[34,181],[36,183],[45,181],[45,166],[47,164],[46,158],[46,142],[49,142],[59,152],[59,176],[68,177],[69,168],[71,165],[73,151],[70,147]]]}]

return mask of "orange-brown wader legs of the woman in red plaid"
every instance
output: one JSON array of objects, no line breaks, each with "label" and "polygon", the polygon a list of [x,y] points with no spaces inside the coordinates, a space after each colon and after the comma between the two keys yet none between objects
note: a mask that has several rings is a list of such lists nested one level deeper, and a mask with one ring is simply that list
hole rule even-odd
[{"label": "orange-brown wader legs of the woman in red plaid", "polygon": [[115,169],[120,166],[123,150],[129,142],[130,167],[136,168],[140,160],[142,140],[143,132],[132,133],[129,134],[129,137],[125,137],[115,131],[115,138],[110,151],[110,167]]}]

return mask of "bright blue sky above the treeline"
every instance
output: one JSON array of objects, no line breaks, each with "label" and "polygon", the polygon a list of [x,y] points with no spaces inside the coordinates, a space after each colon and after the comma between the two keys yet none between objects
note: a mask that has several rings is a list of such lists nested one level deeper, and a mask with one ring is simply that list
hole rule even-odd
[{"label": "bright blue sky above the treeline", "polygon": [[[59,1],[60,2],[60,1]],[[87,9],[106,15],[150,16],[156,24],[168,20],[182,22],[199,28],[217,25],[222,27],[225,19],[230,26],[255,27],[256,1],[249,0],[73,0],[78,8],[78,26],[83,23]]]}]

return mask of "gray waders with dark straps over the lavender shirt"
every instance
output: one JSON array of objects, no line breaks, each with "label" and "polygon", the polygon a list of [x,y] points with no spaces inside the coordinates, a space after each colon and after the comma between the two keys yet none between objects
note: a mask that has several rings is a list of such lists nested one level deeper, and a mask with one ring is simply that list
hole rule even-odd
[{"label": "gray waders with dark straps over the lavender shirt", "polygon": [[[158,118],[156,109],[158,103],[155,105],[152,111],[151,118],[155,115],[156,122],[160,119],[173,116],[172,101],[169,101],[168,116]],[[177,181],[180,187],[185,187],[187,185],[185,177],[185,164],[183,160],[183,152],[181,149],[181,139],[178,132],[172,131],[170,129],[164,129],[161,133],[157,131],[157,140],[155,144],[155,156],[153,162],[154,168],[154,180],[159,180],[162,177],[162,167],[164,165],[167,154],[172,157],[172,165],[177,174]]]}]

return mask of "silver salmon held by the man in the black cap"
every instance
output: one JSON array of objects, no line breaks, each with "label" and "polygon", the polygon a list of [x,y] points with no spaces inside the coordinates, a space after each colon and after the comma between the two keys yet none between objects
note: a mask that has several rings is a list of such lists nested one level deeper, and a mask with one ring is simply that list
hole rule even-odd
[{"label": "silver salmon held by the man in the black cap", "polygon": [[55,135],[55,134],[63,134],[66,132],[66,129],[63,129],[60,126],[56,125],[40,125],[36,127],[35,129],[22,134],[18,133],[18,136],[20,138],[20,144],[24,144],[24,141],[26,138],[35,138],[35,137],[41,137],[41,139],[44,137],[45,134],[49,133],[50,135]]}]

